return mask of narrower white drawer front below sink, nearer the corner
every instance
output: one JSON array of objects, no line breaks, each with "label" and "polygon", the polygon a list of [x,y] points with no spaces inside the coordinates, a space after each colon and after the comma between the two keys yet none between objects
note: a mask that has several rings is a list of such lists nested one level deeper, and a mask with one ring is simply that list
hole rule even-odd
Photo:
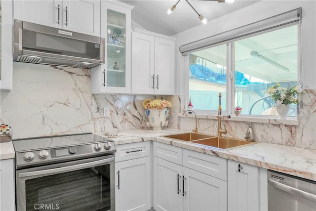
[{"label": "narrower white drawer front below sink, nearer the corner", "polygon": [[153,147],[154,156],[182,166],[181,147],[163,144],[156,141],[153,142]]}]

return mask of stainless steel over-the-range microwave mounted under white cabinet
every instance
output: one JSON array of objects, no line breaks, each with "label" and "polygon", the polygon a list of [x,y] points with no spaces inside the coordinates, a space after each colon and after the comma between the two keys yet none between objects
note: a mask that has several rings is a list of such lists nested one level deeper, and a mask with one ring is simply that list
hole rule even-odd
[{"label": "stainless steel over-the-range microwave mounted under white cabinet", "polygon": [[105,63],[105,39],[14,20],[13,61],[91,68]]}]

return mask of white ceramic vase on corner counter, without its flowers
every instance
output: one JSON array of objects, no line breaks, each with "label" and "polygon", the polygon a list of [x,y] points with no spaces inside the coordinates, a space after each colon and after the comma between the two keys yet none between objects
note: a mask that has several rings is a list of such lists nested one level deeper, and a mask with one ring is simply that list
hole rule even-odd
[{"label": "white ceramic vase on corner counter, without its flowers", "polygon": [[166,121],[166,118],[169,116],[169,111],[167,108],[147,109],[146,116],[148,116],[147,126],[153,127],[153,130],[161,130],[161,127],[168,125],[169,121]]}]

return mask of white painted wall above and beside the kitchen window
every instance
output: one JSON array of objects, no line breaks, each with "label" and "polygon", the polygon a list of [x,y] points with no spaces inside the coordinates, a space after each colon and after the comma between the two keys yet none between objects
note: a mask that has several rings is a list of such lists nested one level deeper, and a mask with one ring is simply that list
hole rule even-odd
[{"label": "white painted wall above and beside the kitchen window", "polygon": [[[210,37],[246,24],[250,24],[276,14],[302,7],[302,70],[303,87],[316,87],[316,1],[315,0],[261,0],[225,16],[209,21],[179,33],[176,49],[179,46]],[[194,18],[194,17],[192,17]],[[184,24],[184,23],[183,23]],[[176,93],[186,94],[188,74],[184,66],[184,57],[176,51]]]}]

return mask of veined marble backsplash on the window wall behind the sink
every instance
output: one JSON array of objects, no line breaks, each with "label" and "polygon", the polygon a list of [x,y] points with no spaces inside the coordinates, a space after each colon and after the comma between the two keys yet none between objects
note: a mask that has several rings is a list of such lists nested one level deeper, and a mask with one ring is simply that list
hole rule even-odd
[{"label": "veined marble backsplash on the window wall behind the sink", "polygon": [[[286,146],[316,150],[316,89],[305,89],[298,96],[302,101],[298,114],[298,126],[283,124],[253,123],[255,140]],[[182,105],[183,107],[183,105]],[[180,118],[179,128],[194,128],[194,118]],[[223,120],[228,133],[223,136],[241,138],[246,134],[248,126],[245,122]],[[217,134],[217,119],[197,119],[199,132]]]}]

